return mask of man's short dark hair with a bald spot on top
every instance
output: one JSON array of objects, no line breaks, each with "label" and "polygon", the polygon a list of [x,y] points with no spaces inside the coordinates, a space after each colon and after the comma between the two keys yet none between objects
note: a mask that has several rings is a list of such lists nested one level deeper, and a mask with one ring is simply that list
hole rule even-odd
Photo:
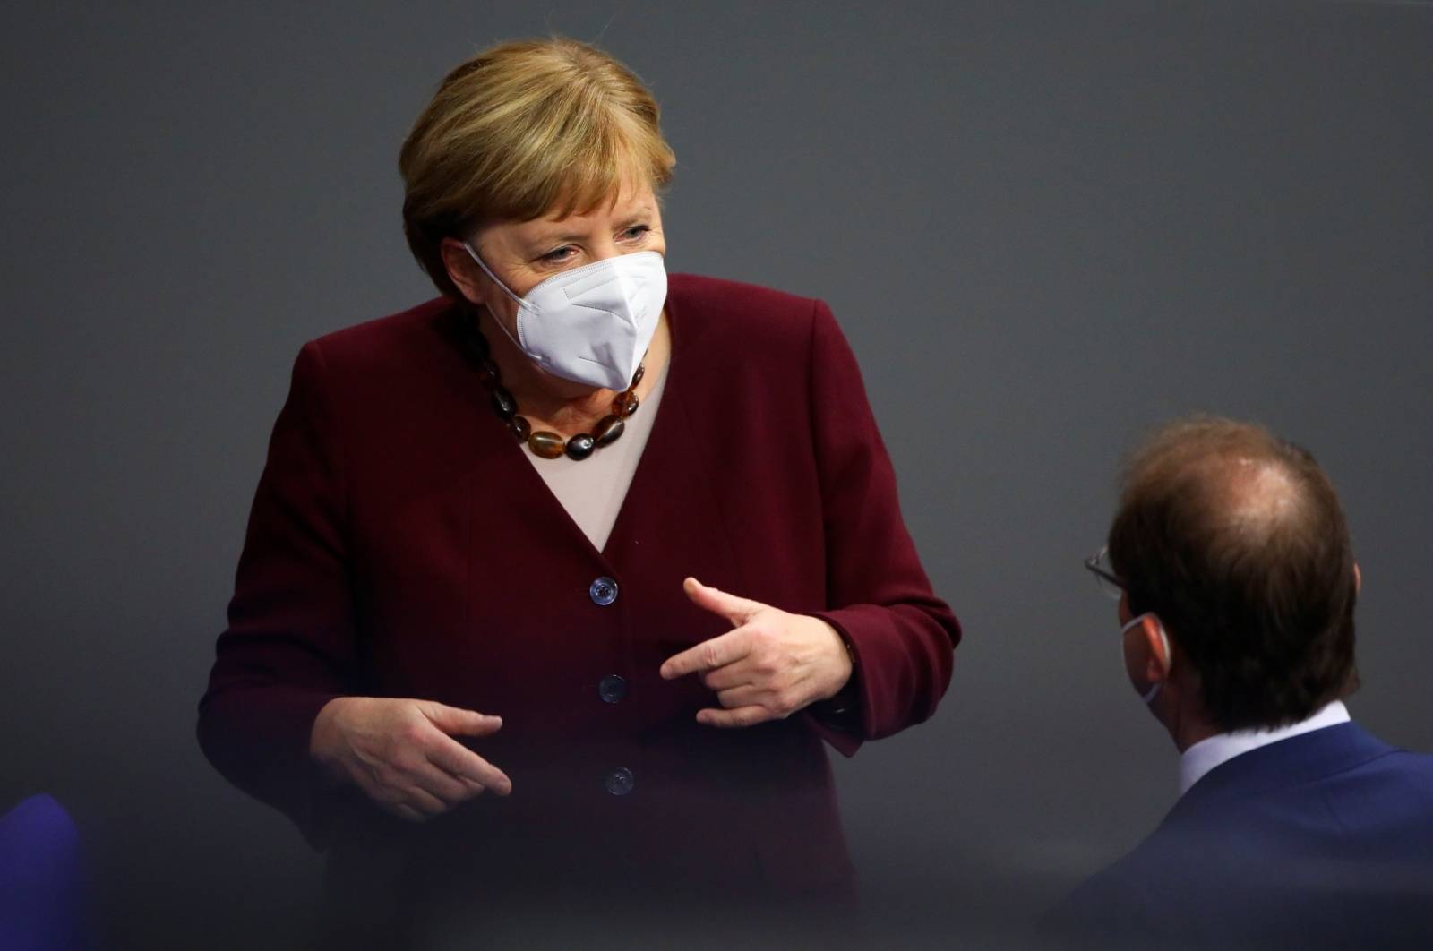
[{"label": "man's short dark hair with a bald spot on top", "polygon": [[1221,418],[1161,428],[1125,468],[1109,557],[1221,730],[1297,723],[1357,687],[1348,526],[1298,445]]}]

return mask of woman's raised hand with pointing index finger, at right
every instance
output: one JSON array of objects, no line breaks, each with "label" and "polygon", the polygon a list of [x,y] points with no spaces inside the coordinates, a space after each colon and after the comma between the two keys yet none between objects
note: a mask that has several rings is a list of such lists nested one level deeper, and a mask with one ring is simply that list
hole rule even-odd
[{"label": "woman's raised hand with pointing index finger, at right", "polygon": [[784,719],[835,696],[851,679],[851,656],[824,620],[727,594],[694,577],[682,587],[699,607],[735,627],[662,665],[663,679],[699,673],[716,692],[724,709],[698,710],[699,723],[754,726]]}]

